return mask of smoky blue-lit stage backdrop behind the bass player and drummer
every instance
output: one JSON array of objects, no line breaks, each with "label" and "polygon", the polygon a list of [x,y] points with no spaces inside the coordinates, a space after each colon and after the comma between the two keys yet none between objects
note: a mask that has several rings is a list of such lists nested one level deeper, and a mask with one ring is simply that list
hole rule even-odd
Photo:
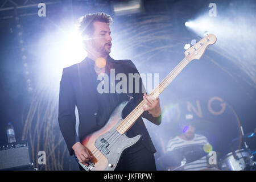
[{"label": "smoky blue-lit stage backdrop behind the bass player and drummer", "polygon": [[[193,113],[197,133],[209,139],[218,158],[230,152],[240,126],[244,133],[255,130],[255,1],[143,1],[141,13],[121,16],[112,10],[113,3],[121,1],[13,2],[16,5],[0,3],[0,143],[7,143],[6,126],[12,122],[16,140],[28,140],[39,170],[78,170],[60,133],[57,108],[63,67],[83,57],[77,57],[77,49],[75,56],[67,55],[74,50],[63,46],[62,35],[69,35],[77,18],[87,13],[112,15],[110,56],[133,60],[140,73],[159,73],[159,81],[184,58],[185,44],[204,37],[200,31],[217,36],[216,44],[160,95],[162,124],[144,119],[158,151],[156,159],[187,113]],[[46,3],[46,16],[39,17],[41,2]],[[210,3],[216,3],[217,16],[208,15]],[[189,20],[197,24],[186,27]],[[198,30],[205,24],[210,24],[208,29]],[[254,143],[249,147],[255,150]],[[45,165],[38,164],[39,151],[46,152]]]}]

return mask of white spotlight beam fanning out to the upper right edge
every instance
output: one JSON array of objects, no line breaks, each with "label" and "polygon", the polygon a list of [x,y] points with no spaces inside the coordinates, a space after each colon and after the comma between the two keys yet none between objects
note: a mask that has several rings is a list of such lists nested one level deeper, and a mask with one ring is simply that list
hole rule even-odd
[{"label": "white spotlight beam fanning out to the upper right edge", "polygon": [[216,35],[217,43],[213,46],[216,51],[221,52],[221,55],[251,78],[247,83],[255,85],[255,49],[251,45],[256,40],[256,18],[252,7],[250,3],[237,8],[229,7],[214,18],[205,12],[187,21],[185,26],[202,37],[207,34]]}]

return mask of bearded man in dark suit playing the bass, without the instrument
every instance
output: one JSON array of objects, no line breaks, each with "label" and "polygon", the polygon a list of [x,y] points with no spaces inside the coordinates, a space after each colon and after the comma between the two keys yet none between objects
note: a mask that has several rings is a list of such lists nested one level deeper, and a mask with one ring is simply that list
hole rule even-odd
[{"label": "bearded man in dark suit playing the bass, without the instrument", "polygon": [[[139,92],[135,92],[137,84],[127,85],[127,92],[99,93],[101,83],[97,77],[104,73],[110,76],[111,70],[115,75],[123,73],[138,73],[131,60],[114,60],[109,56],[112,47],[110,24],[112,18],[105,13],[87,14],[82,17],[80,31],[84,38],[84,47],[88,56],[78,64],[63,69],[59,93],[59,126],[65,139],[70,155],[75,153],[80,163],[85,164],[92,159],[90,152],[81,143],[89,134],[105,126],[112,111],[118,104],[130,100],[131,105],[137,106],[144,100],[144,112],[134,125],[126,132],[127,137],[141,134],[142,139],[122,152],[115,170],[156,170],[154,153],[155,147],[143,123],[142,117],[155,125],[161,123],[161,108],[159,98],[143,93],[143,84],[139,78]],[[115,81],[115,80],[114,80]],[[110,85],[115,84],[109,79]],[[104,85],[105,86],[105,85]],[[128,89],[133,86],[133,92]],[[104,88],[105,89],[105,88]],[[112,90],[113,91],[113,90]],[[79,112],[79,136],[76,134],[75,106]],[[123,111],[129,114],[131,109]],[[79,166],[80,169],[81,166]]]}]

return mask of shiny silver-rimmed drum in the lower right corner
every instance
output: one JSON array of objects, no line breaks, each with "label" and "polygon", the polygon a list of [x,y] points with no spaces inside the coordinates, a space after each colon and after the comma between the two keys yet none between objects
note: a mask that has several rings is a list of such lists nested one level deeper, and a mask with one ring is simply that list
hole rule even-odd
[{"label": "shiny silver-rimmed drum in the lower right corner", "polygon": [[250,170],[253,166],[253,155],[245,149],[230,152],[220,159],[218,166],[222,171]]}]

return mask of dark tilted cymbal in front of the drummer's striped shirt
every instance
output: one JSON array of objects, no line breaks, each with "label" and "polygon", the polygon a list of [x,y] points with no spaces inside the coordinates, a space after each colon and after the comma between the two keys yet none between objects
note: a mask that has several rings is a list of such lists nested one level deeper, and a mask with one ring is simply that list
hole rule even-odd
[{"label": "dark tilted cymbal in front of the drummer's striped shirt", "polygon": [[166,154],[158,158],[158,163],[164,166],[180,166],[181,160],[186,159],[186,164],[191,163],[195,160],[203,158],[207,155],[207,152],[204,151],[204,146],[199,144],[194,144],[190,146],[185,146],[177,148],[173,151],[168,151]]}]

